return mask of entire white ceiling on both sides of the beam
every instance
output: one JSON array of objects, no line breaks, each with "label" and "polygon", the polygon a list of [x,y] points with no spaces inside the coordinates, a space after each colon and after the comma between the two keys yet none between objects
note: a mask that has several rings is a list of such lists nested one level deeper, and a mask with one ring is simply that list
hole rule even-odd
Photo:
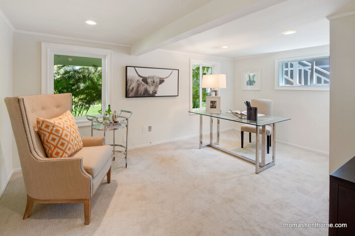
[{"label": "entire white ceiling on both sides of the beam", "polygon": [[[176,32],[180,30],[182,33],[181,37],[174,37],[182,40],[171,40],[172,43],[162,49],[239,58],[329,44],[329,21],[326,17],[355,9],[354,0],[283,1],[285,0],[0,0],[0,10],[18,32],[52,34],[129,46],[139,41],[144,45],[145,40],[152,40],[155,32],[168,35],[174,31],[171,29],[174,27],[170,25],[181,19],[185,19],[185,22],[193,21],[191,25],[197,18],[207,21],[206,16],[214,15],[218,12],[217,8],[220,8],[219,13],[226,12],[224,17],[219,16],[220,19],[230,21],[229,23],[213,28],[216,25],[205,22],[203,30],[197,27],[198,30],[194,31],[198,34],[191,34],[193,30],[188,29],[191,37],[183,33],[182,26],[175,24],[179,26]],[[229,18],[231,15],[228,14],[231,12],[228,12],[228,8],[243,4],[261,6],[259,10],[263,10],[259,11],[255,7],[257,12],[252,13],[248,7],[240,7],[239,10],[235,8],[241,16],[244,11],[244,17],[234,18],[237,20]],[[211,9],[210,12],[207,12],[208,9]],[[201,11],[204,14],[201,15]],[[86,25],[84,21],[88,19],[96,21],[97,25]],[[200,26],[201,24],[202,22]],[[298,32],[288,36],[281,34],[290,29]],[[159,33],[157,35],[159,38]],[[229,48],[223,49],[222,45],[229,45]]]}]

